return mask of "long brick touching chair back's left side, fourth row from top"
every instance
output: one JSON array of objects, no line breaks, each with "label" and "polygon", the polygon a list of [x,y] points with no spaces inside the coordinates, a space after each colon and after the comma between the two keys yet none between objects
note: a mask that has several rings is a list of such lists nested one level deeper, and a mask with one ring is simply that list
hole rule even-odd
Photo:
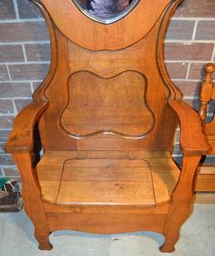
[{"label": "long brick touching chair back's left side, fourth row from top", "polygon": [[49,64],[20,64],[8,66],[13,80],[40,80],[44,79]]}]

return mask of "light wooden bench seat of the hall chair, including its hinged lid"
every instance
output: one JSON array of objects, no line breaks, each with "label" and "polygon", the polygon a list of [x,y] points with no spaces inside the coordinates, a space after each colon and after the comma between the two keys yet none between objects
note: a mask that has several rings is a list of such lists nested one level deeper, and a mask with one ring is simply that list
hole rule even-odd
[{"label": "light wooden bench seat of the hall chair, including its hinged lid", "polygon": [[170,201],[180,170],[169,152],[45,152],[42,200],[60,205],[155,206]]}]

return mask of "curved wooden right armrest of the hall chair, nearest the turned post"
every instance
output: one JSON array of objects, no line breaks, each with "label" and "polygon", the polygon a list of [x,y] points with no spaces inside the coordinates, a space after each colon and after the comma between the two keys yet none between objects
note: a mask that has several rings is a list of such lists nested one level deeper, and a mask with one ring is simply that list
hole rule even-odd
[{"label": "curved wooden right armrest of the hall chair, nearest the turned post", "polygon": [[169,105],[176,112],[181,126],[181,151],[185,154],[206,154],[209,147],[197,112],[183,101],[170,100]]}]

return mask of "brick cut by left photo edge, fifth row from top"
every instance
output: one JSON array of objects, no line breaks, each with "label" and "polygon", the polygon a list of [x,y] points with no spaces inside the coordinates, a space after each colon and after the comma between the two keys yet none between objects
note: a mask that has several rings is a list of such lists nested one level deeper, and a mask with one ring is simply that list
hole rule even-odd
[{"label": "brick cut by left photo edge, fifth row from top", "polygon": [[31,97],[29,83],[0,83],[0,98]]}]

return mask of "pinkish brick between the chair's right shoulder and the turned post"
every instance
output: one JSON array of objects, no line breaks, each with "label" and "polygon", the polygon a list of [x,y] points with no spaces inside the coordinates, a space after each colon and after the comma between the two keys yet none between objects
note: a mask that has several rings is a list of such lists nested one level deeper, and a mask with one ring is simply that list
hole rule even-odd
[{"label": "pinkish brick between the chair's right shoulder and the turned post", "polygon": [[199,88],[201,83],[200,82],[191,82],[191,81],[174,81],[176,86],[181,89],[181,92],[185,96],[198,96]]}]

